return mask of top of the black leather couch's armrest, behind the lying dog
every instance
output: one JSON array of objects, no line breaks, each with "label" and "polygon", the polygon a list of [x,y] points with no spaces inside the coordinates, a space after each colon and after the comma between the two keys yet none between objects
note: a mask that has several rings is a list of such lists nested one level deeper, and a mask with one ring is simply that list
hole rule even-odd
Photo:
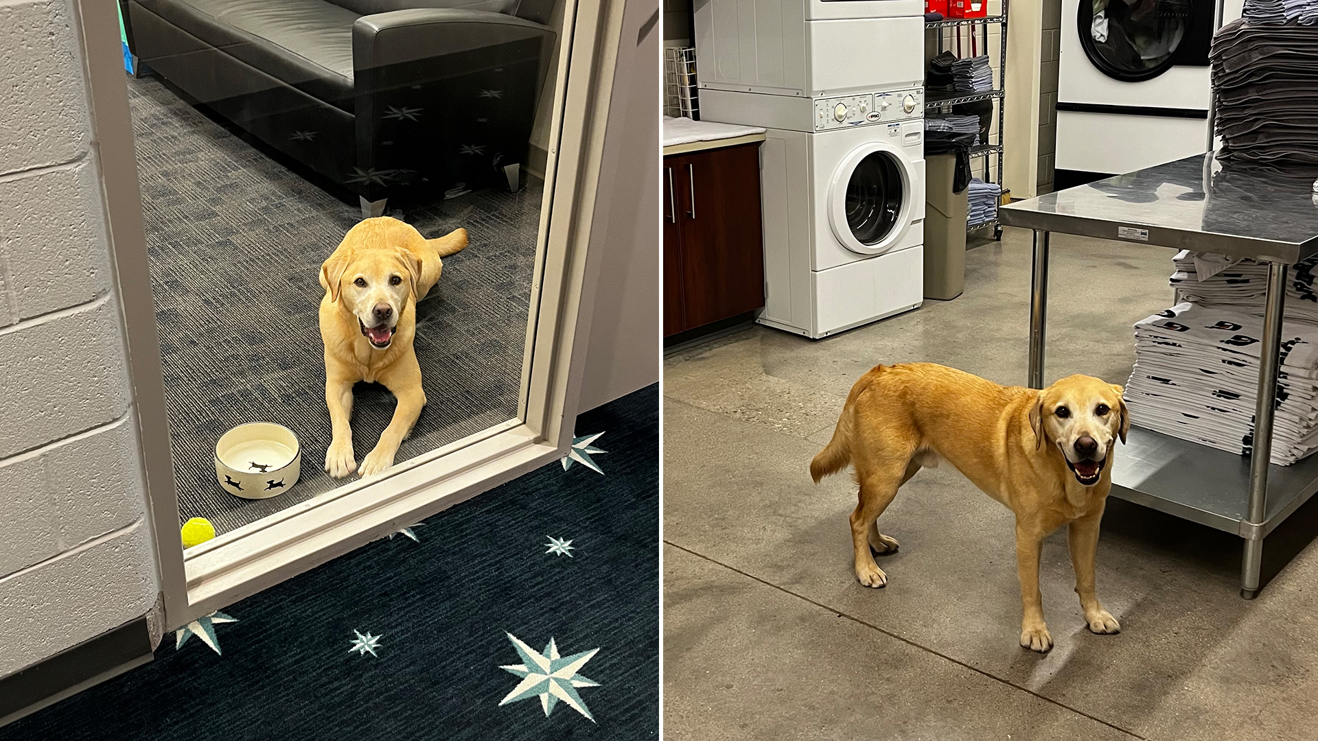
[{"label": "top of the black leather couch's armrest, behind the lying dog", "polygon": [[552,42],[554,36],[550,26],[488,11],[414,8],[376,13],[352,25],[353,67],[361,73],[538,37]]}]

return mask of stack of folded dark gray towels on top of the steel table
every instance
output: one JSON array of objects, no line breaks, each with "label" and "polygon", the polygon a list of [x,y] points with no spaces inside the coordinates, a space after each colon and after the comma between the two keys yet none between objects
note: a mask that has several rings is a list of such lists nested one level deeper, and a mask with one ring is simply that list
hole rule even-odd
[{"label": "stack of folded dark gray towels on top of the steel table", "polygon": [[1284,0],[1275,1],[1276,11],[1248,0],[1246,17],[1213,37],[1218,157],[1318,163],[1318,0],[1284,25],[1269,22],[1286,20]]}]

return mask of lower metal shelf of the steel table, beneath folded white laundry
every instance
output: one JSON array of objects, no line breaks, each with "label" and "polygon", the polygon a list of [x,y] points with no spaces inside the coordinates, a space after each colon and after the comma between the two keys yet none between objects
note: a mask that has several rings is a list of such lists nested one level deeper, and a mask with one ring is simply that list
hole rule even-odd
[{"label": "lower metal shelf of the steel table, beneath folded white laundry", "polygon": [[[1248,458],[1133,426],[1115,455],[1111,496],[1218,530],[1240,531],[1248,513]],[[1294,465],[1269,465],[1264,534],[1315,490],[1318,455]]]}]

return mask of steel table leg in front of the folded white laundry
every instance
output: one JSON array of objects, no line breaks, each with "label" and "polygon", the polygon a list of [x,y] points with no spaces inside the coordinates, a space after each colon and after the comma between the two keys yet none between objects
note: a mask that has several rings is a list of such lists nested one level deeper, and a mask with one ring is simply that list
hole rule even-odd
[{"label": "steel table leg in front of the folded white laundry", "polygon": [[[1268,461],[1272,458],[1272,414],[1277,398],[1277,370],[1281,365],[1281,318],[1286,303],[1286,265],[1268,264],[1268,298],[1263,320],[1263,347],[1259,349],[1259,405],[1253,413],[1253,452],[1249,460],[1249,522],[1261,523],[1268,513]],[[1263,564],[1263,537],[1244,542],[1240,562],[1240,596],[1252,600],[1259,593]]]}]

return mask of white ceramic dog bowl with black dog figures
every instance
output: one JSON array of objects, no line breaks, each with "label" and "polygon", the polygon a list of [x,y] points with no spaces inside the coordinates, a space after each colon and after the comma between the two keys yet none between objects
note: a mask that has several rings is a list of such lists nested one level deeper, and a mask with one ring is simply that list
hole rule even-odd
[{"label": "white ceramic dog bowl with black dog figures", "polygon": [[239,425],[215,443],[215,480],[236,497],[277,497],[298,483],[301,472],[302,446],[283,425]]}]

